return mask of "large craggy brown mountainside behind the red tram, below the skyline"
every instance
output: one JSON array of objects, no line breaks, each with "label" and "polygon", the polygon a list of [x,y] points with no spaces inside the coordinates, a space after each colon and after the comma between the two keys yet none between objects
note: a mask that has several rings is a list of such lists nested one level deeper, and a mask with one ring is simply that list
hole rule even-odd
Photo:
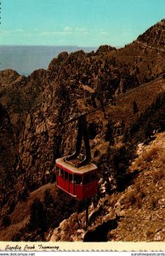
[{"label": "large craggy brown mountainside behind the red tram, below the skyline", "polygon": [[[93,159],[100,167],[103,195],[108,190],[110,192],[111,187],[117,188],[114,179],[119,176],[122,188],[125,186],[121,180],[130,160],[130,154],[126,154],[131,148],[128,137],[134,137],[139,129],[137,120],[156,102],[157,94],[164,90],[164,53],[143,45],[148,40],[147,44],[152,48],[155,44],[159,47],[154,42],[163,41],[163,27],[164,20],[123,49],[101,46],[96,53],[85,54],[79,50],[68,55],[63,52],[50,62],[48,70],[39,69],[27,78],[13,70],[0,72],[1,192],[2,195],[4,191],[8,191],[8,196],[14,195],[13,205],[20,198],[26,200],[28,193],[45,183],[54,182],[55,159],[73,152],[77,124],[64,125],[66,120],[99,108],[112,97],[148,81],[150,86],[134,94],[134,99],[128,96],[118,106],[112,102],[111,107],[100,108],[88,116],[90,146]],[[156,39],[159,37],[160,40],[154,41],[155,33]],[[136,113],[133,108],[135,100],[138,102]],[[159,107],[156,107],[158,112],[157,109]],[[145,124],[143,119],[140,121]],[[124,141],[126,134],[128,137]],[[141,134],[139,129],[140,139]],[[8,182],[7,174],[14,176],[12,181]],[[11,210],[6,199],[1,200],[5,217]],[[82,233],[80,236],[83,237]]]}]

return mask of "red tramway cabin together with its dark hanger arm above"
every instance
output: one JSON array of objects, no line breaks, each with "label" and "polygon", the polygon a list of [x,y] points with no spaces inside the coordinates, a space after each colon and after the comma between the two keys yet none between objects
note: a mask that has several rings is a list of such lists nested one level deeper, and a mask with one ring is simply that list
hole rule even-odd
[{"label": "red tramway cabin together with its dark hanger arm above", "polygon": [[[82,141],[86,156],[81,160]],[[98,168],[90,162],[90,159],[87,119],[86,115],[83,114],[78,118],[76,151],[70,156],[55,160],[56,186],[77,200],[84,200],[96,195],[98,191]]]}]

